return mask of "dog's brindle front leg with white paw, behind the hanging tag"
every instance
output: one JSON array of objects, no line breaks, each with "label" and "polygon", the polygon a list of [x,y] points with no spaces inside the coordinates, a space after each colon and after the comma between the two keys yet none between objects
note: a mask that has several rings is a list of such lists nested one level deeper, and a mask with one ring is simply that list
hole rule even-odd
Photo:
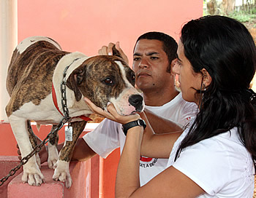
[{"label": "dog's brindle front leg with white paw, behind the hanging tag", "polygon": [[69,162],[72,157],[73,150],[75,148],[75,143],[77,142],[79,135],[83,132],[86,126],[86,121],[82,122],[72,122],[72,141],[65,140],[64,147],[61,148],[59,154],[59,160],[56,165],[54,165],[53,180],[62,181],[66,183],[67,189],[72,185],[72,179],[69,173]]}]

